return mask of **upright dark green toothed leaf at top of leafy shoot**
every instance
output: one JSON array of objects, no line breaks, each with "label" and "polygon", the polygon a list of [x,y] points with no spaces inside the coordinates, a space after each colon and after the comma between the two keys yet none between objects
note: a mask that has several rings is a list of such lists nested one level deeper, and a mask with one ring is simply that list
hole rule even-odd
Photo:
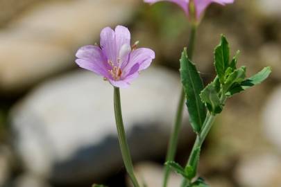
[{"label": "upright dark green toothed leaf at top of leafy shoot", "polygon": [[214,66],[221,84],[224,83],[225,71],[229,66],[229,51],[228,41],[221,35],[221,43],[214,50]]}]

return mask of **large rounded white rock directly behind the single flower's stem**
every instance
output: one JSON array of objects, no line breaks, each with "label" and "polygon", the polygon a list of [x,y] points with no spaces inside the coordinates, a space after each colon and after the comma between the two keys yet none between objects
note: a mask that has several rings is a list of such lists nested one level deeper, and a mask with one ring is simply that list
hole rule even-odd
[{"label": "large rounded white rock directly behind the single flower's stem", "polygon": [[[164,154],[179,91],[177,75],[153,67],[121,89],[134,161]],[[120,168],[112,100],[108,82],[78,71],[42,84],[17,104],[11,113],[15,147],[28,171],[71,182]]]}]

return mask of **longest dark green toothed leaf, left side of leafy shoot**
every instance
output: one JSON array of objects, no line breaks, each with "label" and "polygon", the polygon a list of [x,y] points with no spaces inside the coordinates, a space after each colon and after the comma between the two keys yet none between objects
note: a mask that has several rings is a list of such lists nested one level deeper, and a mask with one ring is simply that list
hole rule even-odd
[{"label": "longest dark green toothed leaf, left side of leafy shoot", "polygon": [[187,97],[189,121],[194,131],[198,133],[206,116],[205,105],[199,97],[204,85],[196,66],[187,57],[187,48],[180,58],[180,78]]}]

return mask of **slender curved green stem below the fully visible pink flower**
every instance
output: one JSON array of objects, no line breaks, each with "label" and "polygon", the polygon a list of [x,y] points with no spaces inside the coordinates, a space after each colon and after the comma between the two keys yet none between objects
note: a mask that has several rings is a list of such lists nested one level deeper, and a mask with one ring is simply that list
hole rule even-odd
[{"label": "slender curved green stem below the fully visible pink flower", "polygon": [[115,121],[116,121],[116,127],[118,132],[119,145],[120,145],[125,168],[128,172],[128,175],[130,176],[131,181],[133,182],[133,185],[135,187],[139,187],[139,184],[137,183],[137,179],[134,174],[133,162],[130,157],[130,150],[126,140],[126,134],[124,130],[124,124],[123,124],[122,112],[121,112],[120,91],[119,88],[117,87],[114,87],[114,114],[115,114]]}]

